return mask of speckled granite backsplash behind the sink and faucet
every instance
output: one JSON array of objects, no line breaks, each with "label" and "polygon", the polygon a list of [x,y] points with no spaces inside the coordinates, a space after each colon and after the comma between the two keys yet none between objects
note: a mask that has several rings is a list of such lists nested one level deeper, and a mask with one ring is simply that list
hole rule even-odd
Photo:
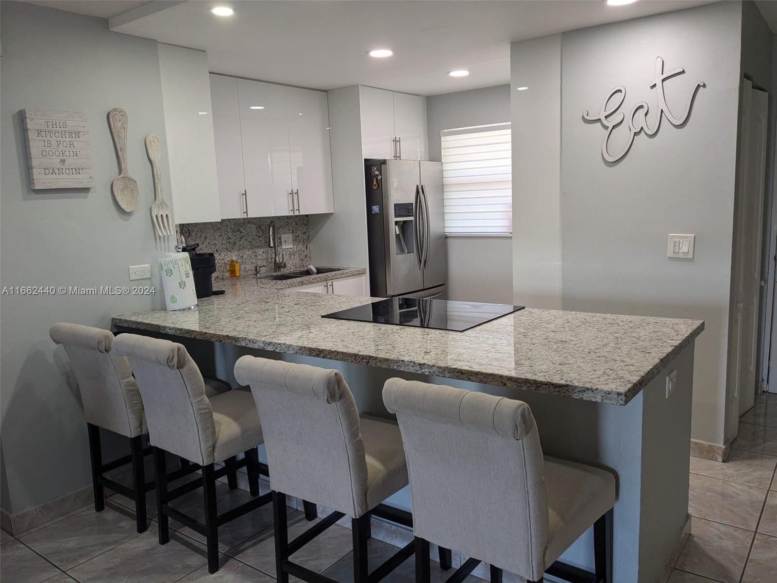
[{"label": "speckled granite backsplash behind the sink and faucet", "polygon": [[[241,275],[254,274],[256,265],[264,265],[263,274],[271,274],[274,250],[267,245],[270,221],[275,221],[277,242],[281,236],[291,233],[294,247],[283,249],[286,268],[280,271],[304,269],[310,260],[310,223],[307,215],[225,218],[221,222],[193,222],[188,227],[186,243],[200,243],[197,253],[214,253],[216,273],[214,279],[229,277],[229,262],[237,260]],[[186,230],[184,229],[184,233]],[[281,250],[279,250],[280,253]]]}]

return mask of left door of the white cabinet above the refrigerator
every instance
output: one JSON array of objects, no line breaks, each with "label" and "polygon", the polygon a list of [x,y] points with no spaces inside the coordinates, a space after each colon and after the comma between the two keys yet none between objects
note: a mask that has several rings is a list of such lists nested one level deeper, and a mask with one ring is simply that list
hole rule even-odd
[{"label": "left door of the white cabinet above the refrigerator", "polygon": [[385,89],[361,86],[359,98],[364,158],[394,158],[394,94]]}]

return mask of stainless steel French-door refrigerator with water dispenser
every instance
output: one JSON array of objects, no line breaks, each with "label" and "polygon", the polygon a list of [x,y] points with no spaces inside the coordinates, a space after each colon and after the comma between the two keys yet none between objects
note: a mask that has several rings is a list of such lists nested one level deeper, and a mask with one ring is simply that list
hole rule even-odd
[{"label": "stainless steel French-door refrigerator with water dispenser", "polygon": [[442,164],[364,160],[370,293],[444,299]]}]

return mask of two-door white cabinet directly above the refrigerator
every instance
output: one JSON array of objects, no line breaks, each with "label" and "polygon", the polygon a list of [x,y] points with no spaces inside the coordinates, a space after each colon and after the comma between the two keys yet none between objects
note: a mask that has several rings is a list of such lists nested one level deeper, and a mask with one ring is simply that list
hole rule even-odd
[{"label": "two-door white cabinet directly above the refrigerator", "polygon": [[359,100],[364,158],[426,159],[423,97],[361,86]]}]

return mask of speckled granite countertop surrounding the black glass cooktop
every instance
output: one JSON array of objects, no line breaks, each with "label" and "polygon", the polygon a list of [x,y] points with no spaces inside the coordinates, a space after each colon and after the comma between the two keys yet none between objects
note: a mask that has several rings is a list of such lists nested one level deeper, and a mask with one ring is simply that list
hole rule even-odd
[{"label": "speckled granite countertop surrounding the black glass cooktop", "polygon": [[267,289],[253,278],[223,284],[225,295],[196,310],[114,316],[113,325],[615,405],[704,329],[702,320],[522,309],[451,332],[321,317],[371,298]]}]

